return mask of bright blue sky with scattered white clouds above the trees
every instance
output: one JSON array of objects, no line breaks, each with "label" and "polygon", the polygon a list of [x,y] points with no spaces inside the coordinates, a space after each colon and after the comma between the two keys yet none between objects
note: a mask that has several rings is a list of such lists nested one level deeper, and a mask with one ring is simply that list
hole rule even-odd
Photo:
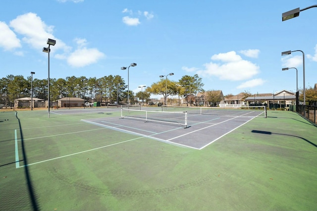
[{"label": "bright blue sky with scattered white clouds above the trees", "polygon": [[282,13],[317,0],[2,0],[0,77],[101,78],[130,89],[198,74],[205,90],[273,93],[317,83],[317,8],[282,22]]}]

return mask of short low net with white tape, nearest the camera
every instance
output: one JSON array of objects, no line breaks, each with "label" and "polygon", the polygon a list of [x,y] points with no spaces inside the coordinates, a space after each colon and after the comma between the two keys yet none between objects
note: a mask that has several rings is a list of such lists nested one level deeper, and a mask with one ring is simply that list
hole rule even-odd
[{"label": "short low net with white tape, nearest the camera", "polygon": [[121,108],[121,118],[181,125],[184,128],[187,127],[187,112],[183,111],[148,111]]}]

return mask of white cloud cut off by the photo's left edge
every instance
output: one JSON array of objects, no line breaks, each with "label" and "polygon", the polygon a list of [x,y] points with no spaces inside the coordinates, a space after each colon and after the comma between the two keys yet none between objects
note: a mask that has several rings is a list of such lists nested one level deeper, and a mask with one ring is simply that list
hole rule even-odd
[{"label": "white cloud cut off by the photo's left edge", "polygon": [[17,39],[14,32],[10,30],[5,22],[0,21],[0,32],[0,47],[3,47],[4,50],[13,50],[21,47],[20,40]]}]

